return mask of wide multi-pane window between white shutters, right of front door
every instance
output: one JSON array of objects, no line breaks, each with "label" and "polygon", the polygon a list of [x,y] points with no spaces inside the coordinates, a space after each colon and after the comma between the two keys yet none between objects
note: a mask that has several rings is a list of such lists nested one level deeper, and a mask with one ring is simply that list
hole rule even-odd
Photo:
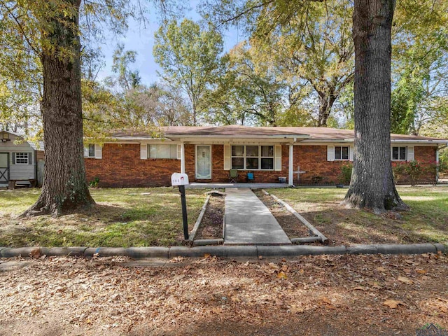
[{"label": "wide multi-pane window between white shutters, right of front door", "polygon": [[274,170],[274,146],[232,146],[232,169]]}]

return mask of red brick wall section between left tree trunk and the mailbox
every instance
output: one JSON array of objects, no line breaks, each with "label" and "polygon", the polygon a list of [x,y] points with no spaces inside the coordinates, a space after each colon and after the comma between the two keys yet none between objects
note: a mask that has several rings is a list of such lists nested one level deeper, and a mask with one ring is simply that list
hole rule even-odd
[{"label": "red brick wall section between left tree trunk and the mailbox", "polygon": [[140,159],[140,144],[104,144],[102,159],[85,158],[87,182],[99,178],[102,187],[170,186],[181,172],[181,160]]}]

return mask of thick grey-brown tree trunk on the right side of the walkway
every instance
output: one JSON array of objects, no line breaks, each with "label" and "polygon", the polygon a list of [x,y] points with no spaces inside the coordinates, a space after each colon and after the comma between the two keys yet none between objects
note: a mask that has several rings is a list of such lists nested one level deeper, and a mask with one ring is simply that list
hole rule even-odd
[{"label": "thick grey-brown tree trunk on the right side of the walkway", "polygon": [[391,166],[391,25],[395,0],[355,0],[355,153],[345,203],[405,209]]}]

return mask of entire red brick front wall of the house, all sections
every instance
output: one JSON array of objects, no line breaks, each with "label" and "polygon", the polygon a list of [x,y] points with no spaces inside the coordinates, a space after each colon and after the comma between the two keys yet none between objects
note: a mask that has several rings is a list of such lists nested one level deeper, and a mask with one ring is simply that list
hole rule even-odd
[{"label": "entire red brick front wall of the house, all sections", "polygon": [[[435,147],[416,146],[415,160],[433,162]],[[280,176],[288,176],[288,146],[281,148],[281,171],[239,171],[239,181],[246,182],[247,172],[253,172],[255,182],[276,183]],[[224,146],[213,145],[211,160],[211,180],[195,179],[195,145],[185,145],[186,173],[190,181],[228,182],[228,171],[224,170]],[[306,173],[300,175],[300,184],[312,184],[313,176],[322,176],[321,183],[339,183],[341,165],[344,161],[327,161],[327,146],[294,146],[294,167]],[[169,186],[171,174],[181,171],[181,161],[173,159],[140,159],[139,144],[105,144],[102,159],[85,158],[87,181],[99,178],[99,186],[104,187],[144,187]],[[428,173],[421,182],[433,181]],[[294,174],[297,184],[297,174]],[[409,183],[399,181],[399,183]]]}]

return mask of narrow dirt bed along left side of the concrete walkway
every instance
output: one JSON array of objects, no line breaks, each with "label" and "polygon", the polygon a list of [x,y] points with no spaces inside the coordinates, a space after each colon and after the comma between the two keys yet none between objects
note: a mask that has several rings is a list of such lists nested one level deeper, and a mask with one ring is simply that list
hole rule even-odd
[{"label": "narrow dirt bed along left side of the concrete walkway", "polygon": [[224,204],[223,196],[210,197],[195,239],[223,238]]}]

